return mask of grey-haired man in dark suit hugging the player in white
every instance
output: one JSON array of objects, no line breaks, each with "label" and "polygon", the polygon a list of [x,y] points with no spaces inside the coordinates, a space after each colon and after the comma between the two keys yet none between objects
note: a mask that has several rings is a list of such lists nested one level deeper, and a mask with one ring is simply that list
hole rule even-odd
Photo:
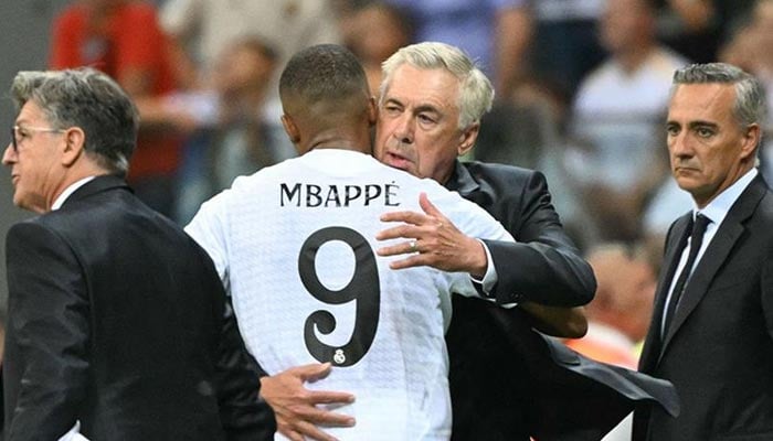
[{"label": "grey-haired man in dark suit hugging the player in white", "polygon": [[[457,160],[475,143],[479,118],[493,95],[484,74],[452,46],[407,46],[384,64],[375,157],[458,191],[499,219],[518,241],[484,243],[498,277],[496,301],[517,302],[519,308],[505,311],[478,299],[453,300],[446,335],[453,439],[599,440],[635,402],[661,401],[668,411],[676,411],[673,389],[665,381],[593,363],[532,331],[534,315],[523,310],[548,319],[543,325],[573,332],[561,319],[573,316],[570,306],[590,301],[595,280],[563,233],[542,174]],[[391,214],[385,219],[409,225],[380,238],[409,237],[420,251],[393,268],[428,265],[473,272],[468,265],[479,258],[472,256],[486,252],[479,246],[460,249],[468,240],[433,216]],[[405,249],[396,246],[379,252],[399,255]],[[308,422],[341,423],[335,413],[313,406],[337,397],[298,391],[304,374],[314,368],[319,369],[305,366],[290,375],[264,377],[263,395],[294,430],[328,440],[319,430],[308,431]]]}]

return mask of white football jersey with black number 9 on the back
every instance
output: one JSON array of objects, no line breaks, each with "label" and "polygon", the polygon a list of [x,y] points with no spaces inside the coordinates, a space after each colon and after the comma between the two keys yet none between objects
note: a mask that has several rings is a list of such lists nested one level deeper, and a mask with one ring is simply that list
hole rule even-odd
[{"label": "white football jersey with black number 9 on the back", "polygon": [[[476,295],[466,273],[392,270],[375,249],[379,217],[430,201],[468,236],[512,240],[477,205],[347,150],[313,150],[239,178],[186,228],[212,256],[233,297],[248,351],[268,374],[330,362],[308,387],[356,396],[337,412],[341,440],[451,435],[444,332],[451,292]],[[402,239],[401,241],[404,241]],[[400,241],[394,241],[400,243]]]}]

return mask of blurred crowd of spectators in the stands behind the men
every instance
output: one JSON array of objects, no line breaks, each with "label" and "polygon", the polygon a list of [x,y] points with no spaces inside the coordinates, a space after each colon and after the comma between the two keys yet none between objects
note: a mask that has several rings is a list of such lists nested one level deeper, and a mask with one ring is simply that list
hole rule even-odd
[{"label": "blurred crowd of spectators in the stands behind the men", "polygon": [[[597,271],[644,261],[653,279],[692,206],[664,140],[674,71],[724,61],[773,94],[773,0],[75,0],[52,35],[52,67],[92,65],[135,98],[129,182],[180,224],[235,176],[295,154],[277,75],[296,51],[346,44],[378,95],[396,49],[459,46],[497,90],[469,159],[543,172],[580,248],[603,250]],[[761,159],[770,181],[772,149]]]}]

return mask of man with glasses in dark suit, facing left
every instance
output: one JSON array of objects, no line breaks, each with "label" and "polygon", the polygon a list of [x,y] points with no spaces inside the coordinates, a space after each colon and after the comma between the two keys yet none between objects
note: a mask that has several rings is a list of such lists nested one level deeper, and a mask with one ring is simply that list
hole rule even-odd
[{"label": "man with glasses in dark suit, facing left", "polygon": [[7,237],[6,441],[269,437],[213,263],[124,182],[127,95],[91,68],[22,72],[11,93],[2,162],[40,216]]}]

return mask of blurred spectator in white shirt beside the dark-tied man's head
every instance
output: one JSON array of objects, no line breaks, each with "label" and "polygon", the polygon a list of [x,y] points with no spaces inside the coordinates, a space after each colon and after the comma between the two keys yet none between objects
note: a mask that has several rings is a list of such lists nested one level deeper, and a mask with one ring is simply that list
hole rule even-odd
[{"label": "blurred spectator in white shirt beside the dark-tied man's head", "polygon": [[649,191],[665,179],[657,133],[671,75],[687,61],[655,40],[650,0],[610,1],[600,24],[611,56],[575,96],[568,170],[601,238],[632,240]]}]

